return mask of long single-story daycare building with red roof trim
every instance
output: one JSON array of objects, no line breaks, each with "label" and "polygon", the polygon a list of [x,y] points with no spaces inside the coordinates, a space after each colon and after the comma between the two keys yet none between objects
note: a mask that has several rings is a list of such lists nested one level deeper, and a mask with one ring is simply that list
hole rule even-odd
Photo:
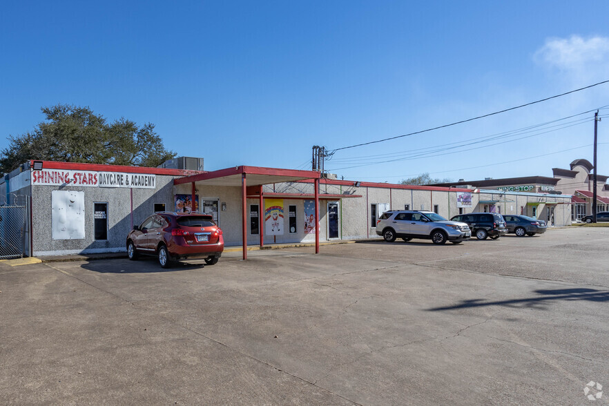
[{"label": "long single-story daycare building with red roof trim", "polygon": [[389,209],[451,218],[552,207],[552,224],[571,219],[570,195],[355,182],[253,166],[200,169],[26,162],[0,179],[0,258],[126,251],[129,231],[157,211],[213,215],[225,245],[242,245],[244,258],[253,244],[377,238],[377,219]]}]

